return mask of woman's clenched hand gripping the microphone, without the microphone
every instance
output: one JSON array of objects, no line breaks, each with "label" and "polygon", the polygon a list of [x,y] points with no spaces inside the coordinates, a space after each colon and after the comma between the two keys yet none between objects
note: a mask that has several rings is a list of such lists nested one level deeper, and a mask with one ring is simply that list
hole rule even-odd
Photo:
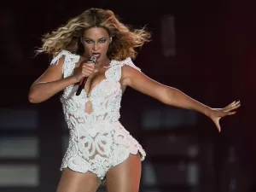
[{"label": "woman's clenched hand gripping the microphone, without the microphone", "polygon": [[82,61],[80,66],[75,69],[73,76],[77,79],[77,82],[79,82],[83,77],[89,77],[92,73],[96,73],[97,71],[94,63]]}]

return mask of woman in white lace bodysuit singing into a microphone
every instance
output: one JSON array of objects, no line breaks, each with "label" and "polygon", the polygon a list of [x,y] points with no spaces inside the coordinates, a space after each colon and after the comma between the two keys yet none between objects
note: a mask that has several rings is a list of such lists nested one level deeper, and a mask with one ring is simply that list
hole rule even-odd
[{"label": "woman in white lace bodysuit singing into a microphone", "polygon": [[[63,90],[61,102],[70,138],[57,192],[96,191],[103,180],[108,192],[138,191],[146,153],[119,123],[127,86],[167,105],[204,113],[218,131],[219,119],[240,106],[232,102],[225,108],[209,108],[149,79],[131,61],[137,55],[135,48],[149,38],[144,28],[131,30],[104,9],[88,9],[44,36],[38,53],[54,55],[54,59],[32,84],[29,101],[44,102]],[[84,78],[84,89],[76,94]]]}]

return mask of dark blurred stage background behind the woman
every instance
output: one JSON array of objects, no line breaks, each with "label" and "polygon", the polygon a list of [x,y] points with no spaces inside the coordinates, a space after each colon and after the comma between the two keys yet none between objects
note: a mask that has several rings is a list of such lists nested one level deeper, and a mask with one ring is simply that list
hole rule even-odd
[{"label": "dark blurred stage background behind the woman", "polygon": [[[39,104],[27,100],[30,85],[51,60],[35,57],[34,51],[45,32],[91,7],[112,9],[125,24],[148,26],[153,41],[137,50],[134,62],[150,78],[212,108],[241,100],[236,115],[221,119],[218,133],[200,113],[126,90],[120,120],[147,152],[140,191],[255,192],[256,14],[253,1],[238,0],[5,2],[0,18],[0,190],[55,191],[68,132],[58,95]],[[166,16],[174,26],[161,24]],[[166,45],[163,30],[175,31]],[[175,54],[166,56],[165,49]],[[32,151],[31,144],[17,142],[22,138],[36,141],[34,156],[15,154],[22,146]],[[34,173],[26,169],[30,166]],[[35,181],[22,184],[26,177]]]}]

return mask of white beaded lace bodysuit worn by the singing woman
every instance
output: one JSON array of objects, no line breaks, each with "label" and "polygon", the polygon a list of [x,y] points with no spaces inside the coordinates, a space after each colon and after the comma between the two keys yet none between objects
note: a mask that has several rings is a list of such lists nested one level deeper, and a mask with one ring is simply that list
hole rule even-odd
[{"label": "white beaded lace bodysuit worn by the singing woman", "polygon": [[[73,74],[80,56],[62,50],[51,64],[58,64],[62,56],[65,56],[63,78],[67,78]],[[131,58],[112,60],[105,72],[105,79],[90,90],[90,96],[85,90],[76,96],[78,85],[74,84],[63,90],[61,103],[70,135],[61,171],[68,167],[75,172],[94,172],[97,177],[104,179],[111,166],[117,166],[130,154],[139,152],[141,160],[144,160],[146,154],[142,146],[119,123],[122,97],[119,79],[124,65],[140,71]],[[90,102],[91,113],[86,113],[87,102]]]}]

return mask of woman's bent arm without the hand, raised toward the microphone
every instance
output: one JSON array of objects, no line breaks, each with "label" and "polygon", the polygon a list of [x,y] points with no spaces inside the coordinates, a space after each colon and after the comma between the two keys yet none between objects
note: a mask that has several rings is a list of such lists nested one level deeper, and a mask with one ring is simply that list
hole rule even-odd
[{"label": "woman's bent arm without the hand, raised toward the microphone", "polygon": [[32,84],[28,93],[28,100],[32,103],[44,102],[54,96],[68,85],[75,84],[74,76],[62,79],[62,67],[65,56],[62,56],[58,64],[50,65],[46,71]]}]

